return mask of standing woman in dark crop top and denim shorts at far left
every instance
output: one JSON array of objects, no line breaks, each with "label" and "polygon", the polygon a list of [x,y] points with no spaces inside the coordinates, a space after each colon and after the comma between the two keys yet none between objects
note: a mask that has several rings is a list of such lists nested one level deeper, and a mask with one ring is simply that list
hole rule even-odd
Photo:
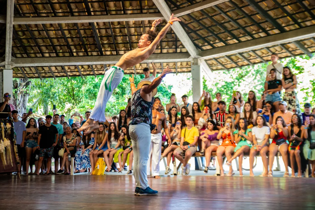
[{"label": "standing woman in dark crop top and denim shorts at far left", "polygon": [[[26,175],[28,175],[28,167],[30,166],[31,154],[37,149],[38,128],[34,118],[30,118],[26,125],[25,132],[25,151],[26,151]],[[32,170],[31,170],[32,171]],[[37,161],[35,161],[35,171],[37,171]],[[32,174],[32,173],[31,173]]]}]

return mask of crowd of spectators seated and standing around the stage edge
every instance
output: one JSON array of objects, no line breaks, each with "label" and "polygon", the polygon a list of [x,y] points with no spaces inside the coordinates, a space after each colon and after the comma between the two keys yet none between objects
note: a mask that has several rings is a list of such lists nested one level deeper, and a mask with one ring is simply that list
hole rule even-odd
[{"label": "crowd of spectators seated and standing around the stage edge", "polygon": [[[170,102],[160,109],[167,116],[169,129],[166,130],[171,137],[169,141],[162,129],[163,147],[160,152],[163,153],[161,160],[167,158],[165,174],[170,173],[169,164],[174,156],[182,163],[182,175],[188,175],[189,160],[198,151],[206,159],[204,173],[213,167],[210,160],[212,153],[216,152],[221,176],[234,174],[232,160],[237,157],[240,176],[243,176],[242,160],[247,153],[250,176],[254,176],[255,155],[260,154],[264,166],[262,176],[272,177],[274,157],[279,152],[285,165],[284,177],[289,177],[289,166],[292,168],[291,177],[295,177],[295,172],[301,177],[307,161],[310,161],[312,176],[315,176],[315,108],[305,103],[304,113],[301,113],[295,91],[298,83],[296,75],[288,66],[278,62],[277,54],[272,54],[271,59],[260,97],[250,90],[246,100],[241,92],[233,91],[227,105],[221,93],[216,93],[216,101],[212,101],[211,94],[203,91],[198,102],[190,104],[188,96],[183,95],[183,104],[179,105],[176,95],[170,96]],[[155,65],[152,66],[154,71],[151,76],[149,69],[144,69],[144,80],[151,81],[156,77]],[[155,100],[160,101],[158,97]],[[133,150],[128,127],[130,99],[126,108],[112,117],[112,122],[100,123],[100,128],[88,135],[77,129],[89,119],[90,111],[85,112],[85,117],[75,112],[68,121],[65,115],[59,115],[55,110],[53,116],[47,115],[45,119],[36,121],[29,118],[32,114],[29,111],[23,113],[19,121],[18,112],[12,110],[9,101],[10,95],[4,94],[0,111],[12,113],[21,163],[19,171],[29,174],[30,167],[32,173],[32,165],[35,165],[36,174],[68,175],[70,157],[75,156],[75,173],[92,174],[98,157],[103,156],[106,172],[128,170],[127,174],[132,174]],[[80,120],[74,122],[74,117]],[[34,159],[36,154],[39,158]],[[226,156],[226,165],[230,167],[227,174],[223,170],[223,156]],[[54,172],[51,170],[52,158]]]}]

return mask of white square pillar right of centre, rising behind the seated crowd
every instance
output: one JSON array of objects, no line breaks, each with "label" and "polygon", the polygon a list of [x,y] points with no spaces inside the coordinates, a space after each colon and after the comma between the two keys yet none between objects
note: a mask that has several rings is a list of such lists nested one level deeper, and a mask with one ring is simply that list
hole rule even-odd
[{"label": "white square pillar right of centre, rising behind the seated crowd", "polygon": [[197,65],[192,65],[192,99],[193,102],[198,102],[202,94],[202,78],[200,64],[195,61],[194,64]]}]

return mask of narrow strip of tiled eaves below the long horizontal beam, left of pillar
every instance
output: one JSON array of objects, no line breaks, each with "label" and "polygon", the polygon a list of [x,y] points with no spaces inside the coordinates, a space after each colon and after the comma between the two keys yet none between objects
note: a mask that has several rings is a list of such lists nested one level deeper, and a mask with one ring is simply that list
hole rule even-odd
[{"label": "narrow strip of tiled eaves below the long horizontal beam, left of pillar", "polygon": [[[104,69],[113,66],[114,64],[110,65],[93,65],[93,69],[95,71],[96,75],[102,75],[104,74]],[[162,66],[161,63],[155,63],[157,67],[157,73],[162,72]],[[163,63],[163,68],[166,68],[167,65],[169,65],[169,68],[172,69],[173,72],[176,72],[176,64],[175,62],[172,63]],[[83,76],[88,76],[88,75],[94,75],[93,71],[91,69],[90,65],[78,65],[81,73]],[[141,74],[143,73],[143,68],[147,67],[146,63],[141,63],[135,66],[136,72]],[[153,71],[152,65],[149,65],[150,70]],[[72,76],[80,76],[79,71],[77,70],[77,66],[64,66],[64,69],[62,66],[51,66],[51,70],[54,72],[55,77],[66,77],[65,70],[67,71],[69,77]],[[26,74],[26,77],[29,78],[38,78],[38,74],[36,72],[36,69],[34,67],[22,67],[22,70]],[[38,72],[40,73],[41,77],[53,77],[51,74],[51,71],[49,67],[37,67]],[[177,62],[177,71],[178,73],[183,73],[183,72],[190,72],[191,71],[191,62]],[[135,71],[133,68],[129,68],[126,71],[124,71],[125,74],[134,74]],[[24,78],[22,72],[20,71],[20,68],[15,67],[13,68],[13,77],[19,77],[19,78]]]}]

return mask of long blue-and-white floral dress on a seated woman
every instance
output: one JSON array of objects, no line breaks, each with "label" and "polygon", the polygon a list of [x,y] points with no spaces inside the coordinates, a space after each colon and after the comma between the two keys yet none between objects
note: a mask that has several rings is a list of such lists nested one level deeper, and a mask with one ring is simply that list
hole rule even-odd
[{"label": "long blue-and-white floral dress on a seated woman", "polygon": [[[80,145],[84,145],[85,147],[88,147],[89,145],[94,145],[94,138],[90,139],[89,144],[84,145],[82,139],[80,141]],[[76,156],[75,156],[75,165],[76,165],[76,170],[82,170],[84,168],[90,168],[91,167],[91,162],[90,162],[90,151],[92,150],[92,148],[85,150],[85,152],[82,154],[82,148],[80,148],[79,150],[77,150],[76,152]]]}]

